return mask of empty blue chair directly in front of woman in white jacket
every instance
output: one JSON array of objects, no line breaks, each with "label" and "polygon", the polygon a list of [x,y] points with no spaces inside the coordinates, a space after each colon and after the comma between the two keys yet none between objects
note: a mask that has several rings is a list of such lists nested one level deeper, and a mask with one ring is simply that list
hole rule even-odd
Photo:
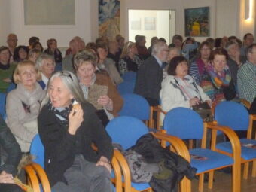
[{"label": "empty blue chair directly in front of woman in white jacket", "polygon": [[[189,150],[191,166],[197,168],[200,175],[199,191],[203,191],[204,173],[209,172],[209,188],[212,188],[213,173],[216,169],[233,166],[233,192],[240,191],[240,144],[236,133],[228,127],[216,126],[214,123],[203,123],[200,115],[189,108],[170,110],[163,121],[163,129],[168,135],[180,139],[202,139],[200,148]],[[211,149],[206,148],[206,132],[212,130]],[[233,156],[215,151],[217,130],[230,139]],[[188,149],[187,149],[188,150]]]}]

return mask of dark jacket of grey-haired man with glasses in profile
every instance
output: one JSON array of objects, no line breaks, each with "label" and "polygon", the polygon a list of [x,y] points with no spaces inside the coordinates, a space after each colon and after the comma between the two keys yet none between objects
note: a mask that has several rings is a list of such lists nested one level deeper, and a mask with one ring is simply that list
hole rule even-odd
[{"label": "dark jacket of grey-haired man with glasses in profile", "polygon": [[158,105],[162,80],[163,69],[157,59],[150,56],[139,66],[134,93],[145,97],[150,105]]}]

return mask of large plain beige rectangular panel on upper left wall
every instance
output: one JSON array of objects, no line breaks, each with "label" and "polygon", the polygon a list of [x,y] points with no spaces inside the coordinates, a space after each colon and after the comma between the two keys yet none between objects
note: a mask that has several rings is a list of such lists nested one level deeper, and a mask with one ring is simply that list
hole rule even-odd
[{"label": "large plain beige rectangular panel on upper left wall", "polygon": [[75,25],[75,0],[24,0],[25,25]]}]

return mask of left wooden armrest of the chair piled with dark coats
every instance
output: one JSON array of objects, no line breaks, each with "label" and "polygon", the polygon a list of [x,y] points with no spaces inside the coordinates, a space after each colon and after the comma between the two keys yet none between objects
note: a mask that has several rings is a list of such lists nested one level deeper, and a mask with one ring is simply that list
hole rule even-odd
[{"label": "left wooden armrest of the chair piled with dark coats", "polygon": [[[117,161],[120,165],[120,169],[123,172],[124,191],[132,191],[130,168],[128,166],[126,158],[123,157],[123,154],[121,154],[121,152],[118,151],[117,149],[114,149],[114,157],[117,158]],[[122,191],[122,190],[120,190],[120,191]]]}]

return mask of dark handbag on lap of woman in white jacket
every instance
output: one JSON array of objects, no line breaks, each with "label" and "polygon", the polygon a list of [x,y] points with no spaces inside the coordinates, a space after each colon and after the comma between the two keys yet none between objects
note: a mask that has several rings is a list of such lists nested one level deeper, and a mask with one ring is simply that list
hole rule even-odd
[{"label": "dark handbag on lap of woman in white jacket", "polygon": [[196,111],[204,122],[211,122],[213,120],[212,111],[207,102],[200,102],[198,105],[194,105],[193,111]]}]

